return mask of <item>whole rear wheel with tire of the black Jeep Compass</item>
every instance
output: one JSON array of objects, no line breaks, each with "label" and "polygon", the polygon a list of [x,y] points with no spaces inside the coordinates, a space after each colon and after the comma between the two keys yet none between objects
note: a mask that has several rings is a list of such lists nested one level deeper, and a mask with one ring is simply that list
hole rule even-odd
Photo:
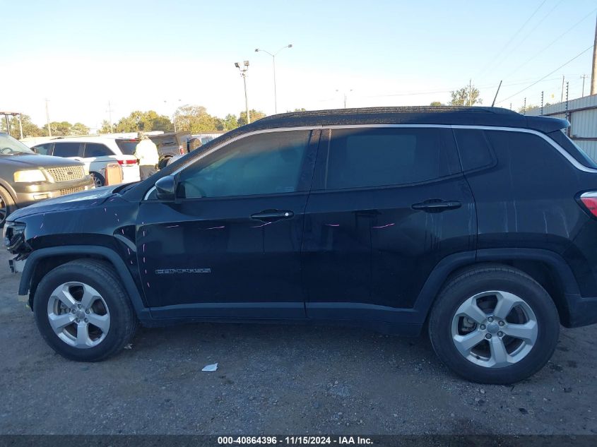
[{"label": "whole rear wheel with tire of the black Jeep Compass", "polygon": [[507,384],[532,376],[552,356],[559,333],[560,320],[549,294],[509,266],[472,268],[450,280],[429,320],[439,359],[478,383]]}]

